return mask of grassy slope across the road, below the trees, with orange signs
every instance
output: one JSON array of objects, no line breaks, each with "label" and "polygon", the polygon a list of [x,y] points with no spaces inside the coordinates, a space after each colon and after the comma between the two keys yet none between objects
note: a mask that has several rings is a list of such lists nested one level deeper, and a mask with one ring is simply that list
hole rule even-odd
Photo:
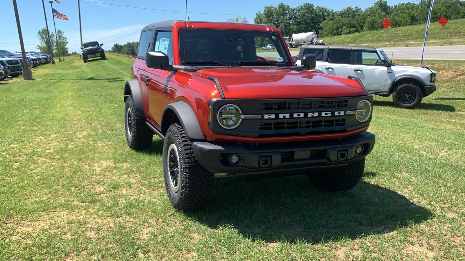
[{"label": "grassy slope across the road, below the trees, with orange signs", "polygon": [[[403,26],[391,28],[389,30],[370,31],[363,33],[352,33],[346,35],[320,38],[325,40],[326,45],[335,46],[357,46],[369,45],[372,47],[385,46],[423,46],[425,38],[426,24],[416,26]],[[431,21],[428,31],[427,46],[447,46],[447,45],[465,45],[465,19],[449,20],[446,24],[447,40],[445,39],[445,30],[443,29],[443,39],[441,40],[441,25],[437,21]],[[386,33],[386,44],[384,44],[384,33]],[[391,40],[389,45],[388,38]],[[299,50],[292,48],[291,50]]]}]

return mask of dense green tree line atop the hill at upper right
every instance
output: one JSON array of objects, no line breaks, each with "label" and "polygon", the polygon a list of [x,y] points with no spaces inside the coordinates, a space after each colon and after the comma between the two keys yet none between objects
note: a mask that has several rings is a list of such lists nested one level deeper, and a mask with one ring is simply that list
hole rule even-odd
[{"label": "dense green tree line atop the hill at upper right", "polygon": [[[277,7],[265,6],[263,12],[255,15],[255,24],[271,24],[283,35],[315,30],[319,37],[329,37],[349,33],[380,30],[385,18],[392,27],[424,24],[428,17],[431,0],[416,3],[400,3],[389,6],[387,0],[378,0],[371,7],[345,7],[334,11],[326,7],[304,3],[290,7],[279,3]],[[431,20],[438,21],[441,16],[448,20],[465,18],[465,0],[435,0]]]}]

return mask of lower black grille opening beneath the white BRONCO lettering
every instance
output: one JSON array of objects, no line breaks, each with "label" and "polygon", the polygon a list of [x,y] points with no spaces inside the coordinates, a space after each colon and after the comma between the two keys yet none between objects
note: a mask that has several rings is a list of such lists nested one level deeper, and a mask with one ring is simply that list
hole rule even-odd
[{"label": "lower black grille opening beneath the white BRONCO lettering", "polygon": [[313,120],[313,121],[290,121],[290,122],[266,122],[260,123],[260,131],[309,129],[322,127],[345,126],[345,119],[336,120]]}]

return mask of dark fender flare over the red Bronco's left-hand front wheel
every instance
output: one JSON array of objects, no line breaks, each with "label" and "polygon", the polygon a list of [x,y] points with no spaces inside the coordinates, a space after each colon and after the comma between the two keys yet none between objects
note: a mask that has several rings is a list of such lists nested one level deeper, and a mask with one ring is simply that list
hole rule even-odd
[{"label": "dark fender flare over the red Bronco's left-hand front wheel", "polygon": [[173,113],[178,117],[179,123],[186,132],[187,137],[196,140],[205,140],[195,113],[191,106],[184,101],[174,102],[165,106],[163,116],[161,117],[161,132],[163,135],[166,135],[168,127],[172,124]]}]

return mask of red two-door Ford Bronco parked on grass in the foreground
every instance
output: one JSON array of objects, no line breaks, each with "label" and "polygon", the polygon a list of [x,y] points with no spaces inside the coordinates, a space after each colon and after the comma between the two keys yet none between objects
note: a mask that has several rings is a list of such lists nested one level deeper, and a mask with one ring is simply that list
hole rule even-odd
[{"label": "red two-door Ford Bronco parked on grass in the foreground", "polygon": [[306,175],[351,189],[375,142],[373,99],[358,78],[309,72],[315,63],[307,54],[295,66],[269,25],[150,24],[124,88],[127,144],[164,139],[166,192],[179,210],[205,208],[220,176]]}]

